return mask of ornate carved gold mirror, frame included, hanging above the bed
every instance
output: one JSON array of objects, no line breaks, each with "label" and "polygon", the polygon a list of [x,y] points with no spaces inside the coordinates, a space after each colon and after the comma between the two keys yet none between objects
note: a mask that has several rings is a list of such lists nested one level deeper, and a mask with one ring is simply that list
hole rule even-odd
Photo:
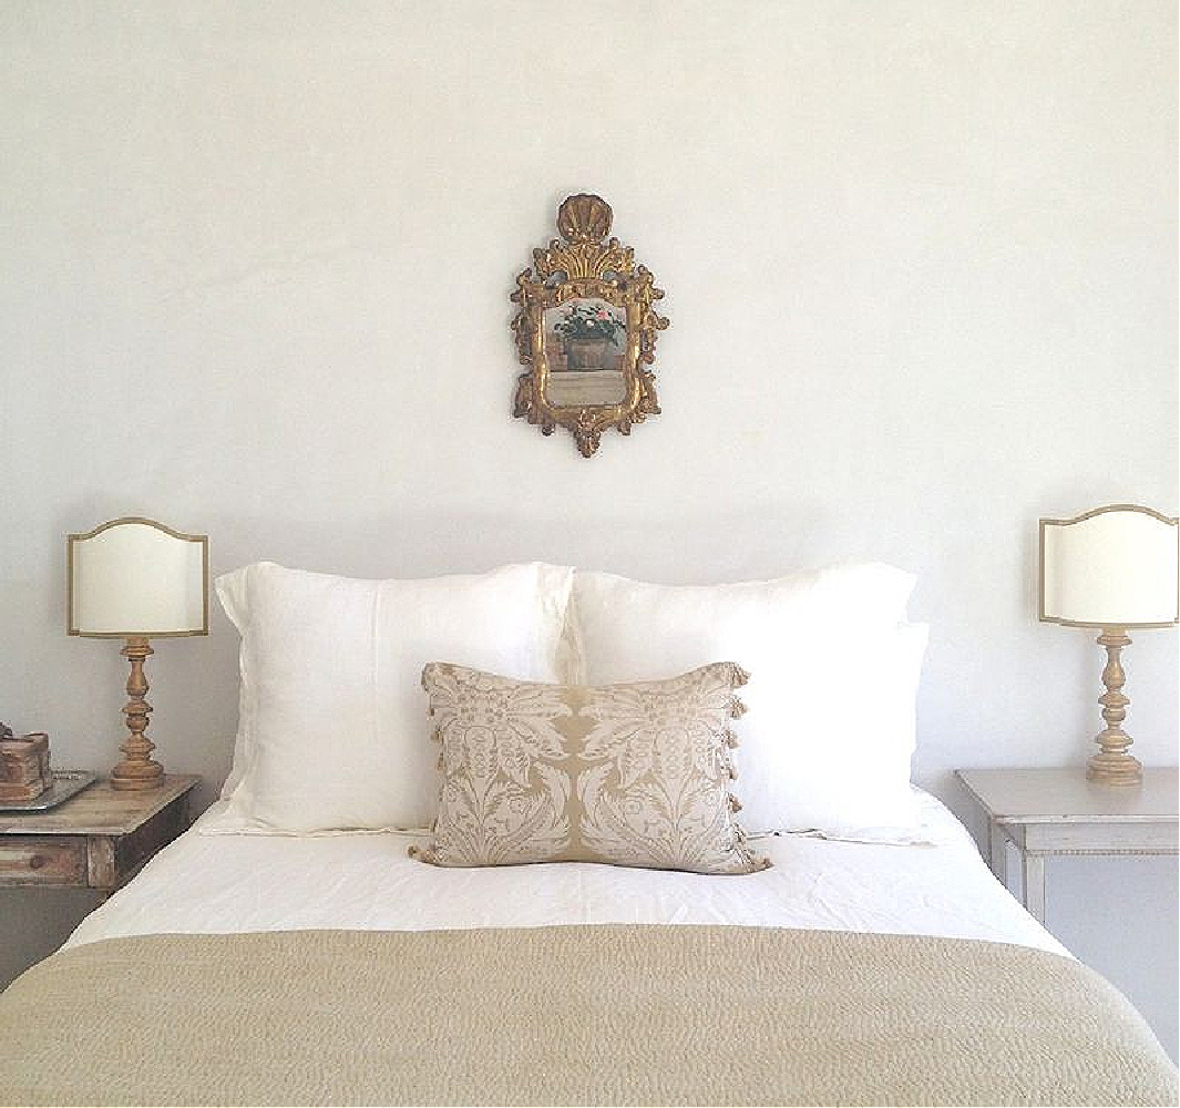
[{"label": "ornate carved gold mirror, frame included, hanging above the bed", "polygon": [[512,320],[522,365],[512,414],[539,424],[542,434],[568,427],[582,454],[598,448],[602,432],[660,414],[655,374],[656,332],[668,320],[651,307],[663,296],[635,251],[607,240],[610,205],[601,196],[569,196],[557,209],[551,240],[532,251],[532,268],[517,277]]}]

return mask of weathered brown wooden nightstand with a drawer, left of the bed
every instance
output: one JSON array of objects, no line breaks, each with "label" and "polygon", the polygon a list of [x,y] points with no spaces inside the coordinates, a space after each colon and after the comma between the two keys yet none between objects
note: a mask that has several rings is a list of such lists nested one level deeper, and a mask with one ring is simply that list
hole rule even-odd
[{"label": "weathered brown wooden nightstand with a drawer, left of the bed", "polygon": [[199,781],[168,776],[138,793],[96,781],[48,812],[0,814],[0,889],[40,885],[110,896],[188,830],[189,795]]}]

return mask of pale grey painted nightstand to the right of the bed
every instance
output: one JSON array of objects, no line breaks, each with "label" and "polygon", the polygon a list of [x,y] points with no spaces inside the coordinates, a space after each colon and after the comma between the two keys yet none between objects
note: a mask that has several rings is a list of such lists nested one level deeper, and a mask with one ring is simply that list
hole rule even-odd
[{"label": "pale grey painted nightstand to the right of the bed", "polygon": [[1145,768],[1140,785],[1096,785],[1086,767],[956,769],[988,818],[988,865],[1007,884],[1007,844],[1021,855],[1024,907],[1044,923],[1044,859],[1054,854],[1176,854],[1178,772]]}]

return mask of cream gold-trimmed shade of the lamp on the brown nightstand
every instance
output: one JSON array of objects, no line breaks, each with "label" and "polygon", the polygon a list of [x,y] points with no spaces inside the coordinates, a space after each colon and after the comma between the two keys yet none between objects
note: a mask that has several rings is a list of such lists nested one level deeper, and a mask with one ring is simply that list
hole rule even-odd
[{"label": "cream gold-trimmed shade of the lamp on the brown nightstand", "polygon": [[209,634],[209,538],[112,519],[66,543],[68,631],[92,638]]}]

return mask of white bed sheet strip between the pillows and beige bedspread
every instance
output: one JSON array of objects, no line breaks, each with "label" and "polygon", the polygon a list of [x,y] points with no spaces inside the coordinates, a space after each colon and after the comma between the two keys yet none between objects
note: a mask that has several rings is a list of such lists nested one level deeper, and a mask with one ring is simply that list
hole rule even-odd
[{"label": "white bed sheet strip between the pillows and beige bedspread", "polygon": [[664,923],[940,935],[1067,953],[925,793],[925,845],[763,838],[756,845],[774,866],[742,877],[582,863],[438,868],[409,859],[407,846],[421,839],[399,833],[202,834],[221,807],[83,920],[66,945],[166,932]]}]

